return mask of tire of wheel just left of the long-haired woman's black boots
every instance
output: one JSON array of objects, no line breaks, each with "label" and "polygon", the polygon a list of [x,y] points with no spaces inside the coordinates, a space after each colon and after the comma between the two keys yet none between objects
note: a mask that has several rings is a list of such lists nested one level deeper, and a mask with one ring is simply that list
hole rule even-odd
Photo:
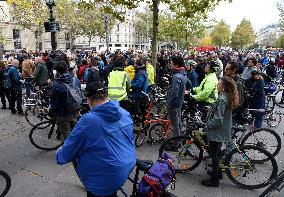
[{"label": "tire of wheel just left of the long-haired woman's black boots", "polygon": [[[192,162],[193,164],[191,164],[191,163],[190,164],[185,164],[185,165],[181,164],[182,167],[179,168],[175,164],[178,164],[178,162],[180,162],[180,158],[173,158],[174,159],[173,165],[175,167],[176,172],[192,171],[195,168],[197,168],[199,166],[199,164],[201,163],[202,158],[203,158],[203,149],[202,149],[202,147],[198,143],[192,141],[190,136],[172,137],[172,138],[164,141],[164,143],[160,146],[160,149],[159,149],[159,157],[162,155],[162,153],[167,152],[167,150],[165,150],[165,149],[166,149],[166,146],[169,145],[169,144],[176,144],[178,146],[178,148],[179,148],[179,150],[178,150],[178,157],[180,157],[181,154],[183,154],[183,156],[184,156],[185,153],[186,153],[187,154],[186,156],[189,156],[189,158],[192,159],[192,161],[193,161]],[[186,145],[186,147],[184,145]],[[199,151],[199,153],[197,154],[198,158],[196,158],[196,156],[194,156],[194,158],[193,158],[192,157],[193,154],[190,153],[190,152],[188,153],[188,149],[191,148],[193,145],[196,146],[197,150]],[[185,150],[185,148],[186,148],[186,150]],[[186,152],[183,153],[181,151],[186,151]],[[170,154],[170,153],[168,153],[168,154],[170,156],[172,156],[172,154]]]}]

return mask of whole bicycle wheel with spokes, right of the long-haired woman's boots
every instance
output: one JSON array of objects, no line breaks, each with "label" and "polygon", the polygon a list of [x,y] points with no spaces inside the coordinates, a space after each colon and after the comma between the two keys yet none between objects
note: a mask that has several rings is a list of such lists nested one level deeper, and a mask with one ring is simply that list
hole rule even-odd
[{"label": "whole bicycle wheel with spokes, right of the long-haired woman's boots", "polygon": [[[233,149],[225,159],[228,178],[245,189],[260,189],[267,186],[278,172],[274,157],[258,146],[248,145],[239,149],[241,153]],[[259,159],[263,158],[267,161],[259,163]]]}]

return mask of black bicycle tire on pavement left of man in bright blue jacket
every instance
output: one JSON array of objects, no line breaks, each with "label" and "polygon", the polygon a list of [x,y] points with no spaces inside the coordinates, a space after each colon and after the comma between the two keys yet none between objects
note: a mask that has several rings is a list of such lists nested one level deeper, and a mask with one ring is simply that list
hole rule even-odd
[{"label": "black bicycle tire on pavement left of man in bright blue jacket", "polygon": [[[40,128],[41,125],[44,125],[44,124],[49,124],[49,125],[51,126],[50,131],[48,131],[47,128],[45,128],[45,129]],[[63,145],[63,143],[64,143],[63,140],[62,140],[62,142],[60,142],[60,143],[59,143],[59,142],[56,143],[56,145],[54,145],[54,146],[52,146],[52,147],[46,147],[46,146],[39,145],[39,144],[36,142],[36,140],[33,139],[33,138],[34,138],[33,136],[34,136],[34,134],[35,134],[34,132],[37,131],[37,129],[40,129],[40,131],[41,131],[42,133],[47,130],[47,131],[48,131],[47,136],[46,136],[46,134],[43,134],[43,137],[41,136],[41,138],[42,138],[42,139],[50,139],[52,134],[54,134],[53,136],[57,135],[57,132],[56,132],[56,131],[55,131],[55,133],[54,133],[54,128],[55,128],[55,121],[44,121],[44,122],[41,122],[41,123],[37,124],[36,126],[34,126],[34,127],[31,129],[30,134],[29,134],[29,139],[30,139],[32,145],[34,145],[37,149],[40,149],[40,150],[45,150],[45,151],[57,150],[60,146]],[[57,137],[56,137],[56,138],[57,138]],[[58,141],[59,141],[59,140],[58,140]],[[50,143],[48,143],[48,144],[50,144]]]}]

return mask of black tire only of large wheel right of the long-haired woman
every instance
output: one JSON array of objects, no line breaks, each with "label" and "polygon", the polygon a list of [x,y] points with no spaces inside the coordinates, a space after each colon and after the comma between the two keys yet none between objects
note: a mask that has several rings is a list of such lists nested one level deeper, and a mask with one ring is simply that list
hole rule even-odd
[{"label": "black tire only of large wheel right of the long-haired woman", "polygon": [[[275,158],[272,156],[272,154],[270,154],[268,151],[266,151],[265,149],[260,148],[260,147],[258,147],[258,146],[251,146],[251,145],[248,145],[248,146],[241,146],[241,147],[239,147],[239,149],[240,149],[242,152],[244,152],[245,150],[249,150],[249,149],[250,149],[250,150],[257,150],[257,151],[259,151],[261,154],[264,154],[264,155],[268,158],[268,161],[270,161],[271,164],[272,164],[271,166],[269,165],[269,167],[272,167],[272,172],[271,172],[271,174],[270,174],[270,176],[269,176],[269,178],[268,178],[267,180],[263,181],[263,182],[260,183],[260,184],[255,184],[255,185],[248,185],[248,184],[246,184],[246,183],[241,183],[240,181],[238,181],[238,180],[236,179],[236,177],[238,176],[237,172],[234,171],[234,173],[233,173],[234,175],[232,175],[233,170],[236,170],[236,168],[231,168],[231,169],[230,169],[230,168],[226,168],[226,174],[227,174],[228,178],[229,178],[234,184],[236,184],[236,185],[238,185],[239,187],[244,188],[244,189],[260,189],[260,188],[263,188],[263,187],[269,185],[270,181],[273,180],[273,178],[277,175],[277,172],[278,172],[277,162],[276,162]],[[225,158],[225,163],[224,163],[226,166],[230,166],[230,165],[231,165],[231,159],[232,159],[232,158],[234,158],[234,160],[235,160],[235,157],[233,157],[233,155],[234,155],[235,153],[239,154],[239,152],[238,152],[237,149],[233,149],[233,150],[227,155],[227,157]],[[243,157],[243,156],[242,156],[242,157]],[[251,165],[251,164],[254,164],[254,165],[255,165],[255,164],[258,164],[258,162],[254,162],[254,161],[251,160],[249,157],[248,157],[248,160],[249,160],[249,164],[250,164],[250,165]],[[263,163],[262,163],[261,165],[263,165]],[[246,166],[243,166],[243,167],[244,167],[244,169],[245,169]],[[242,170],[242,169],[241,169],[241,170]],[[251,171],[250,171],[250,173],[251,173]],[[264,171],[262,170],[261,173],[263,174]],[[269,173],[270,173],[270,172],[269,172]],[[237,176],[235,176],[235,175],[237,175]],[[244,178],[244,177],[247,177],[247,175],[249,175],[249,173],[247,174],[247,172],[245,172],[243,175],[238,176],[238,177]],[[235,177],[234,177],[234,176],[235,176]],[[254,180],[260,180],[260,179],[254,178]]]}]

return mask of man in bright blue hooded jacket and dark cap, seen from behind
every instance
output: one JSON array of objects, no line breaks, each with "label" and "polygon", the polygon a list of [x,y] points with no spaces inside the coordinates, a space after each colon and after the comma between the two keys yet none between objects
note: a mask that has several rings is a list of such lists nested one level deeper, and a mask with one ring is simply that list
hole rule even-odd
[{"label": "man in bright blue hooded jacket and dark cap, seen from behind", "polygon": [[76,161],[88,197],[114,197],[136,162],[133,121],[101,82],[87,84],[86,97],[91,111],[58,149],[57,163]]}]

